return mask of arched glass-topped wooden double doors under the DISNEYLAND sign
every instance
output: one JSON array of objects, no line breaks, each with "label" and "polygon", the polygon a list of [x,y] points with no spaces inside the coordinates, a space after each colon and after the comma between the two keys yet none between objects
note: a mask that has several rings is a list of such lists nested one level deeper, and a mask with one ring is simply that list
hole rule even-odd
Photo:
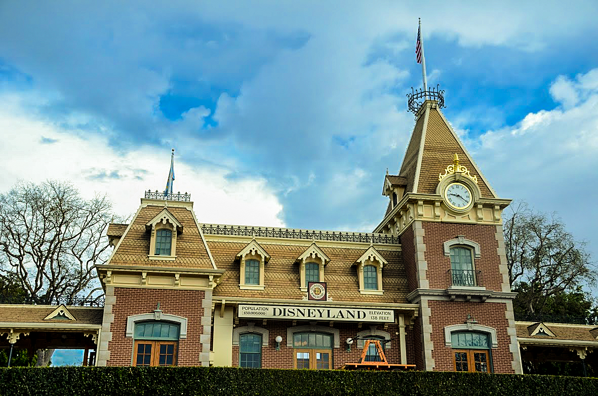
[{"label": "arched glass-topped wooden double doors under the DISNEYLAND sign", "polygon": [[295,368],[329,370],[332,368],[332,335],[324,333],[294,333]]}]

